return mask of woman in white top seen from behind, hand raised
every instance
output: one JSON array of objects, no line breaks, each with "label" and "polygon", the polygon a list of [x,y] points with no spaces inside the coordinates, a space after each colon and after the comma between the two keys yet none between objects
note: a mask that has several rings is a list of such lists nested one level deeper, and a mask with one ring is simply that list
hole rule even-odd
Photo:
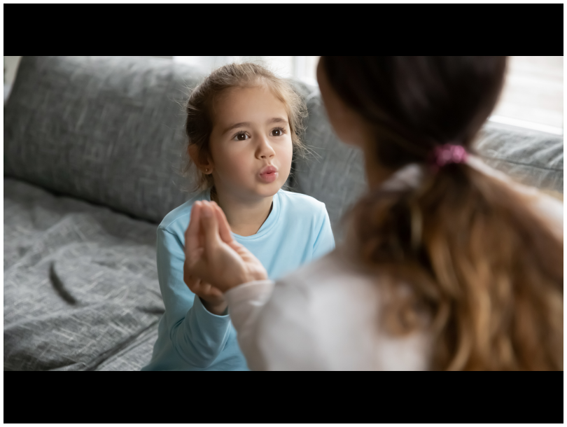
[{"label": "woman in white top seen from behind, hand raised", "polygon": [[200,203],[187,274],[225,293],[252,369],[563,370],[563,204],[468,154],[505,57],[322,57],[370,191],[346,243],[276,283]]}]

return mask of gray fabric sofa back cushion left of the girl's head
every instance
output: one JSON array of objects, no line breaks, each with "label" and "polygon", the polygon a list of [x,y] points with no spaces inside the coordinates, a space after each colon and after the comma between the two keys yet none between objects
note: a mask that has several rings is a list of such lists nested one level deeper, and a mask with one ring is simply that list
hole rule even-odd
[{"label": "gray fabric sofa back cushion left of the girl's head", "polygon": [[23,57],[3,173],[159,222],[189,197],[179,102],[201,77],[167,59]]}]

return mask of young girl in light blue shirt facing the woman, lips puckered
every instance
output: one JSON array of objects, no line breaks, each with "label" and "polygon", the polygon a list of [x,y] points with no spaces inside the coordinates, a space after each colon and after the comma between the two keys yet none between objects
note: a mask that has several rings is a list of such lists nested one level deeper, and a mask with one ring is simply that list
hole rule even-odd
[{"label": "young girl in light blue shirt facing the woman, lips puckered", "polygon": [[158,276],[165,303],[144,370],[246,370],[223,294],[184,272],[194,204],[214,201],[233,237],[272,278],[332,251],[325,205],[281,190],[305,107],[284,80],[256,64],[217,69],[187,102],[188,153],[202,192],[158,228]]}]

